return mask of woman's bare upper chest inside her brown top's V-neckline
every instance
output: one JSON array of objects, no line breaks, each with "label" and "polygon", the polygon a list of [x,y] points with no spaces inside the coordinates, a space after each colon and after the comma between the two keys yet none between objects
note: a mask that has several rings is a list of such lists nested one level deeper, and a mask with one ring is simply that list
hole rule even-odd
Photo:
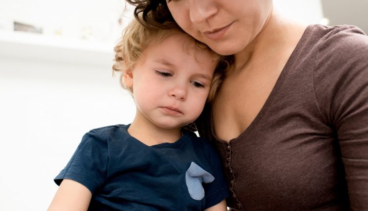
[{"label": "woman's bare upper chest inside her brown top's V-neckline", "polygon": [[212,102],[215,135],[230,141],[245,131],[260,113],[278,76],[244,73],[225,79]]}]

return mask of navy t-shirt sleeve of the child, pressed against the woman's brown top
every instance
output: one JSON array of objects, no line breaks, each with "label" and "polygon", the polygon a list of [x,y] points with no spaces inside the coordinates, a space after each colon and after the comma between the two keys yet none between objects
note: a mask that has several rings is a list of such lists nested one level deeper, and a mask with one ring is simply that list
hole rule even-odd
[{"label": "navy t-shirt sleeve of the child, pressed against the woman's brown top", "polygon": [[206,155],[206,157],[208,158],[212,170],[212,176],[215,179],[213,182],[203,185],[206,193],[205,209],[220,203],[229,196],[228,185],[222,169],[221,160],[217,152],[209,144],[206,147],[208,148],[208,155]]}]

